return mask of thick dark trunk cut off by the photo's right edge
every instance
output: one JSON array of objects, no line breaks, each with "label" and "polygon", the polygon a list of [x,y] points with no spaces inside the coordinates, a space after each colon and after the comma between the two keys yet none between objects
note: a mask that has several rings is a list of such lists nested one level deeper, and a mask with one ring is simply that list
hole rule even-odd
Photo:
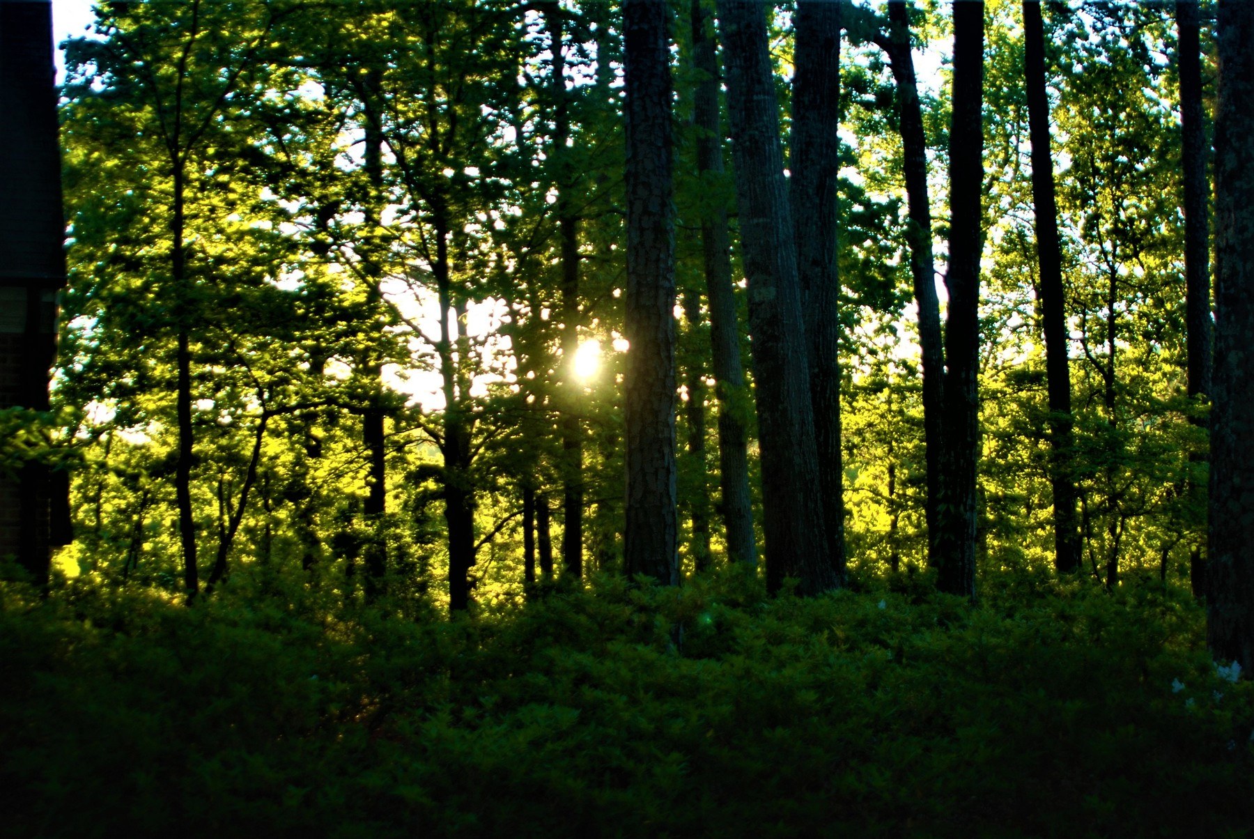
[{"label": "thick dark trunk cut off by the photo's right edge", "polygon": [[1206,641],[1254,672],[1254,4],[1220,0]]}]

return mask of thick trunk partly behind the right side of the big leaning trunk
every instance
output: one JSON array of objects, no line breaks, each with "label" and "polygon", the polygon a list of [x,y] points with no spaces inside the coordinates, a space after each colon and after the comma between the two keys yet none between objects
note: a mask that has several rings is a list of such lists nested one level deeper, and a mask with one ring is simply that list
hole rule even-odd
[{"label": "thick trunk partly behind the right side of the big leaning trunk", "polygon": [[789,159],[796,267],[805,312],[810,403],[828,558],[845,579],[844,467],[840,458],[840,5],[801,0],[793,18],[793,149]]}]

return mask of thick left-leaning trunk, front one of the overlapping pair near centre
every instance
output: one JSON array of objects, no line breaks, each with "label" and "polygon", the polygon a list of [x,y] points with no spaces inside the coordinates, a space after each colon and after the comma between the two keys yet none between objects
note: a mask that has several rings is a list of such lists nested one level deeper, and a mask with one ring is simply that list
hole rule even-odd
[{"label": "thick left-leaning trunk, front one of the overlapping pair near centre", "polygon": [[756,0],[720,0],[719,20],[749,280],[766,584],[777,591],[785,577],[795,577],[800,593],[816,594],[838,587],[840,579],[828,558],[823,502],[814,492],[818,448],[766,6]]}]

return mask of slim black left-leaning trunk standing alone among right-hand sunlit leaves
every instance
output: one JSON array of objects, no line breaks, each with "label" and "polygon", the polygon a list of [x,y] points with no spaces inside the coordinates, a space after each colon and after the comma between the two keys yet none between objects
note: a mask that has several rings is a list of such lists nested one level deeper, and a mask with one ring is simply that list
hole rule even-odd
[{"label": "slim black left-leaning trunk standing alone among right-hand sunlit leaves", "polygon": [[1050,390],[1050,484],[1053,490],[1053,564],[1060,573],[1080,569],[1076,518],[1075,440],[1071,416],[1071,366],[1067,361],[1067,315],[1062,290],[1062,242],[1050,150],[1050,99],[1045,90],[1045,25],[1040,0],[1023,4],[1027,110],[1032,134],[1032,199],[1036,207],[1036,252],[1041,266],[1041,315]]}]

